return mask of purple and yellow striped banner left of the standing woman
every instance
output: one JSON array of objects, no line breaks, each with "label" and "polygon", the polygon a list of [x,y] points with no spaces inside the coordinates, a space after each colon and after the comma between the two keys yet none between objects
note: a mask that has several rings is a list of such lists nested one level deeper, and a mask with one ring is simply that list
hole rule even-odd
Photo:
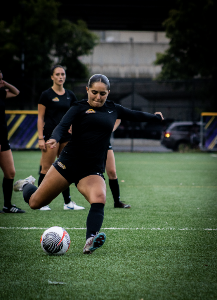
[{"label": "purple and yellow striped banner left of the standing woman", "polygon": [[37,110],[6,110],[11,149],[38,149]]}]

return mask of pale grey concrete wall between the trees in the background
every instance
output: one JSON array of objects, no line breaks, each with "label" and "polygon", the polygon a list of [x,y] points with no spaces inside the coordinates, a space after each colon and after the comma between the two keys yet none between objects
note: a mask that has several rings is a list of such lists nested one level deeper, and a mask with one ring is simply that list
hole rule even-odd
[{"label": "pale grey concrete wall between the trees in the background", "polygon": [[154,78],[161,71],[154,66],[157,52],[168,48],[165,32],[94,31],[100,43],[91,55],[80,57],[91,74],[108,77]]}]

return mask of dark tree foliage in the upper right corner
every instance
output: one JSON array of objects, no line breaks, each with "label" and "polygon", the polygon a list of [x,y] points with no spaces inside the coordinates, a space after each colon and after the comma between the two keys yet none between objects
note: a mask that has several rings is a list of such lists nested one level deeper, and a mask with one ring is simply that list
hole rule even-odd
[{"label": "dark tree foliage in the upper right corner", "polygon": [[216,1],[178,0],[163,23],[169,49],[157,53],[158,79],[216,79]]}]

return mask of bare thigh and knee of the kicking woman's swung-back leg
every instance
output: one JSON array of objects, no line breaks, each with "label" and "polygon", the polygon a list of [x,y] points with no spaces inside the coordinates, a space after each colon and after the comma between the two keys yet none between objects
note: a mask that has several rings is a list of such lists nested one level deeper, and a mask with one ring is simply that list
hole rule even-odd
[{"label": "bare thigh and knee of the kicking woman's swung-back leg", "polygon": [[38,189],[30,197],[29,206],[33,209],[38,209],[48,205],[69,185],[68,181],[54,166],[51,166]]}]

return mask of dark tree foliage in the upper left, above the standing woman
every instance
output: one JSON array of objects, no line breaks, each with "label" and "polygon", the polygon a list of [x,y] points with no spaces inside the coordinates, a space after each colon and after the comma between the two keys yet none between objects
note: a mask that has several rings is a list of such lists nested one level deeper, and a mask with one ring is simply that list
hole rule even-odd
[{"label": "dark tree foliage in the upper left, above the standing woman", "polygon": [[21,74],[24,48],[25,76],[48,77],[52,65],[67,67],[67,76],[85,78],[87,67],[79,56],[87,55],[97,43],[83,21],[77,24],[58,19],[56,0],[23,0],[20,11],[7,24],[0,22],[0,59],[4,75]]}]

